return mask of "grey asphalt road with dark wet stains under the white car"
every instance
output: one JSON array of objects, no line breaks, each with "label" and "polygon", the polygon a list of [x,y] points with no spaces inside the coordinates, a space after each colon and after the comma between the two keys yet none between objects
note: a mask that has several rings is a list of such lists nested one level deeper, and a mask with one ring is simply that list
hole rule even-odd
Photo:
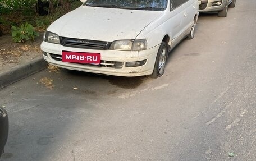
[{"label": "grey asphalt road with dark wet stains under the white car", "polygon": [[255,0],[200,15],[158,79],[44,70],[2,89],[0,160],[256,160],[255,17]]}]

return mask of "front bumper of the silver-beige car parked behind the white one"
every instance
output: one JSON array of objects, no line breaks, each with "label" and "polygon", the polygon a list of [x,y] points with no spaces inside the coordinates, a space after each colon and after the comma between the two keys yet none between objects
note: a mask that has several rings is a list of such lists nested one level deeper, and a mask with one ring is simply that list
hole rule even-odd
[{"label": "front bumper of the silver-beige car parked behind the white one", "polygon": [[217,2],[218,0],[202,0],[199,5],[199,12],[218,12],[223,10],[226,4],[226,0],[222,0],[220,6],[212,6],[213,2]]}]

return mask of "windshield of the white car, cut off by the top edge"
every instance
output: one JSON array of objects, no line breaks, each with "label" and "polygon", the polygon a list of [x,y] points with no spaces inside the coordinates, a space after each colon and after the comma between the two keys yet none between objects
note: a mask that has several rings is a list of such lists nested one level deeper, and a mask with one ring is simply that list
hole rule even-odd
[{"label": "windshield of the white car, cut off by the top edge", "polygon": [[84,5],[130,10],[163,11],[166,9],[167,3],[167,0],[88,0],[84,3]]}]

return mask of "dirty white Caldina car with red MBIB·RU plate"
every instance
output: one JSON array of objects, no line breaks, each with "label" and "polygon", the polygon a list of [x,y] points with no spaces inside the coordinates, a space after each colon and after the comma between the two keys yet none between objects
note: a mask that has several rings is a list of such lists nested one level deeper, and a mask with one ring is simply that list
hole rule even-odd
[{"label": "dirty white Caldina car with red MBIB\u00b7RU plate", "polygon": [[81,0],[51,24],[41,49],[49,64],[116,76],[164,73],[168,52],[193,39],[198,0]]}]

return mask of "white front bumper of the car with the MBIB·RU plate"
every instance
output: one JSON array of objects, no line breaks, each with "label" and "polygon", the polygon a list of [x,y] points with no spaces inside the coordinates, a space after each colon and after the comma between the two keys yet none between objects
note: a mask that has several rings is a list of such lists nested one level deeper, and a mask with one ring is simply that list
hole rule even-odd
[{"label": "white front bumper of the car with the MBIB\u00b7RU plate", "polygon": [[[143,76],[153,72],[159,45],[142,51],[118,51],[118,50],[95,50],[64,47],[60,44],[42,42],[43,57],[49,64],[84,72],[99,73],[115,76]],[[100,53],[101,63],[99,66],[62,62],[62,50],[70,52]],[[147,60],[144,65],[126,67],[126,62]],[[118,63],[118,66],[115,64]]]}]

